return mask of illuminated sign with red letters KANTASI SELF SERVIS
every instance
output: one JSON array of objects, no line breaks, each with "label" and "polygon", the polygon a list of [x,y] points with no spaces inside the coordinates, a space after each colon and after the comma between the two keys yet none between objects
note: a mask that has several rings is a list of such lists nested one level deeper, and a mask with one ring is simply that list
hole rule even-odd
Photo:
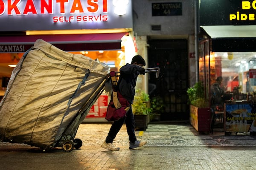
[{"label": "illuminated sign with red letters KANTASI SELF SERVIS", "polygon": [[[17,15],[38,15],[38,14],[85,14],[88,15],[78,15],[76,17],[70,16],[54,16],[52,21],[54,23],[58,22],[71,22],[76,20],[80,21],[107,21],[108,20],[108,0],[102,0],[102,4],[99,4],[98,0],[87,0],[86,6],[83,6],[80,0],[74,0],[73,3],[70,0],[56,0],[55,6],[58,8],[53,8],[52,0],[40,1],[40,6],[35,6],[33,0],[23,1],[25,3],[21,4],[21,0],[8,0],[7,4],[0,0],[0,15],[7,12],[8,16]],[[23,5],[23,8],[21,8]],[[102,6],[101,11],[99,11],[99,6]],[[102,12],[102,14],[97,15],[97,13]],[[104,14],[105,13],[105,14]]]}]

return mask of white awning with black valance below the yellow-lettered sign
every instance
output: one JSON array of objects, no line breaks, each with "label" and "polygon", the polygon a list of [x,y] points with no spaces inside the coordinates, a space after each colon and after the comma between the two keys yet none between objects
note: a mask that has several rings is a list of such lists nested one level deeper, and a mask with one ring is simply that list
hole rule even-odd
[{"label": "white awning with black valance below the yellow-lettered sign", "polygon": [[211,38],[215,52],[256,51],[256,26],[201,26]]}]

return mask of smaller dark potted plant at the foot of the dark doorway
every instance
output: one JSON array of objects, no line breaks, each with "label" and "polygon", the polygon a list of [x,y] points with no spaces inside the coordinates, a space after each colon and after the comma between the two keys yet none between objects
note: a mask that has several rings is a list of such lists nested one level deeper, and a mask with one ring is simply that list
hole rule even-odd
[{"label": "smaller dark potted plant at the foot of the dark doorway", "polygon": [[160,96],[151,97],[150,108],[151,108],[150,120],[151,121],[160,121],[161,113],[164,112],[162,97],[160,97]]}]

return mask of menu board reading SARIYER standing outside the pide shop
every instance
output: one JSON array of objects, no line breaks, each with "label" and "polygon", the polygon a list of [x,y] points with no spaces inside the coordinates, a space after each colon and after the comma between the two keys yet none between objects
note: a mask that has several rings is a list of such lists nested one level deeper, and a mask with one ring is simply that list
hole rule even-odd
[{"label": "menu board reading SARIYER standing outside the pide shop", "polygon": [[225,132],[256,132],[256,105],[224,104]]}]

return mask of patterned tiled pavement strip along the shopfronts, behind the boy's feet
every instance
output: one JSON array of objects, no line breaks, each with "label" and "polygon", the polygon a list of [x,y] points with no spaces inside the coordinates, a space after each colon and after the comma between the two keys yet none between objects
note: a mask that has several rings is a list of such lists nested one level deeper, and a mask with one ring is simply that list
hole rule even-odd
[{"label": "patterned tiled pavement strip along the shopfronts, behind the boy's feet", "polygon": [[[100,145],[108,134],[110,124],[81,124],[76,137],[84,145]],[[220,126],[220,125],[217,125]],[[147,146],[256,146],[256,136],[238,133],[225,136],[223,128],[215,128],[213,134],[199,134],[189,123],[149,124],[147,130],[136,132],[138,140],[146,140]],[[113,144],[128,146],[126,127],[123,125]]]}]

